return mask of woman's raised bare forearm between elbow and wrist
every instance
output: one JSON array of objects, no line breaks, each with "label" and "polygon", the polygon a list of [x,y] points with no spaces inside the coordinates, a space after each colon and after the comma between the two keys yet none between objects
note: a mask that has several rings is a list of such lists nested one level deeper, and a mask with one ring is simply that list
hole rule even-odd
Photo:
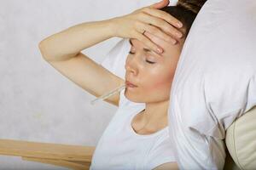
[{"label": "woman's raised bare forearm between elbow and wrist", "polygon": [[44,38],[39,48],[47,60],[71,59],[85,48],[114,37],[113,20],[102,20],[71,26]]}]

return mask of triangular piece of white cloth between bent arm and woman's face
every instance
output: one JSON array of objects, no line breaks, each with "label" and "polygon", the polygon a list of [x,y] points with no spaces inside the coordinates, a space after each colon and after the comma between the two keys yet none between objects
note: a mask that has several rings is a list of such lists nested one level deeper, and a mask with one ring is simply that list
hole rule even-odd
[{"label": "triangular piece of white cloth between bent arm and woman's face", "polygon": [[121,39],[110,49],[100,65],[114,75],[125,79],[125,60],[130,48],[129,39]]}]

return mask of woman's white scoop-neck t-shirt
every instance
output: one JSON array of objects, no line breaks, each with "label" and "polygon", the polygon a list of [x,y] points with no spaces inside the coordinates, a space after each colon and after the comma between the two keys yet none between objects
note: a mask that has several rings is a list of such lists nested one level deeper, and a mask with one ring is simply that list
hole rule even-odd
[{"label": "woman's white scoop-neck t-shirt", "polygon": [[119,108],[102,134],[92,157],[94,169],[153,169],[175,161],[169,129],[152,134],[138,134],[131,127],[134,116],[145,109],[145,103],[134,103],[120,91]]}]

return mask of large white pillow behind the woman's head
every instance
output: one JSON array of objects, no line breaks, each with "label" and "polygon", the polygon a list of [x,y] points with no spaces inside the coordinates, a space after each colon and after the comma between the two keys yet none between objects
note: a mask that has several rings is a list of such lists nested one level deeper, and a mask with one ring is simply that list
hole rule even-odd
[{"label": "large white pillow behind the woman's head", "polygon": [[225,130],[256,105],[256,1],[208,0],[172,82],[169,129],[181,169],[222,169]]}]

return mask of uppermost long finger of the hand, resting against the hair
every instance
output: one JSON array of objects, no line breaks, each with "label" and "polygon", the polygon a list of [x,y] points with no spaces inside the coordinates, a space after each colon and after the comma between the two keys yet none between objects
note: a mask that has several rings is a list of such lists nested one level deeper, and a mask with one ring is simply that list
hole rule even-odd
[{"label": "uppermost long finger of the hand, resting against the hair", "polygon": [[173,17],[172,14],[168,14],[160,9],[142,8],[142,11],[152,16],[156,16],[160,19],[166,20],[169,24],[171,24],[172,26],[176,26],[177,28],[181,28],[183,26],[183,23]]}]

